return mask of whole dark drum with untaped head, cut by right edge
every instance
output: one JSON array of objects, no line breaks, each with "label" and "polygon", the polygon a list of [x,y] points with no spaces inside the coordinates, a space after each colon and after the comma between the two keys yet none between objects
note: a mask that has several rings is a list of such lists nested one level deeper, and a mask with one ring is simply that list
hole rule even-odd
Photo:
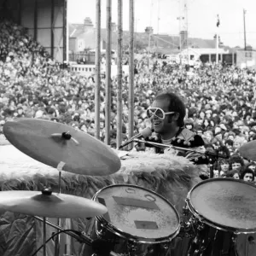
[{"label": "whole dark drum with untaped head, cut by right edge", "polygon": [[217,255],[211,250],[237,253],[236,236],[256,232],[256,186],[252,183],[208,179],[195,185],[186,201],[195,217],[190,222],[197,228],[189,255],[195,251]]}]

